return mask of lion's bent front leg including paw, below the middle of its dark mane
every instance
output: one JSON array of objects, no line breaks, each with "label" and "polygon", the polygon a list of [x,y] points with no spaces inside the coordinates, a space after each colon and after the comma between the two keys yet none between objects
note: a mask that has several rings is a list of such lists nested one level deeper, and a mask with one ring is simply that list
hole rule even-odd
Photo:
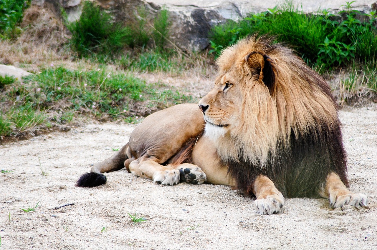
[{"label": "lion's bent front leg including paw, below the middle of its dark mane", "polygon": [[284,197],[276,189],[273,181],[265,175],[258,175],[254,181],[253,193],[255,212],[261,215],[279,213],[284,206]]}]

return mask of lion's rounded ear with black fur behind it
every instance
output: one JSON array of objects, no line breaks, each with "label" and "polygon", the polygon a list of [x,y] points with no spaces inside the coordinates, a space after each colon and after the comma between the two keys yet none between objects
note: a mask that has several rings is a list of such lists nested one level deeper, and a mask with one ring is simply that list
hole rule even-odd
[{"label": "lion's rounded ear with black fur behind it", "polygon": [[274,89],[275,73],[271,58],[269,58],[267,55],[262,55],[259,52],[251,52],[245,59],[251,73],[259,76],[259,81],[264,82],[272,94]]}]

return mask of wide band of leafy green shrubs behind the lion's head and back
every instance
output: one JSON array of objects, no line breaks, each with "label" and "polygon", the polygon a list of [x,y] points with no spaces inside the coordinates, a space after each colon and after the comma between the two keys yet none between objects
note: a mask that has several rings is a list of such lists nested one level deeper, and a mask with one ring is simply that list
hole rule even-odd
[{"label": "wide band of leafy green shrubs behind the lion's head and back", "polygon": [[239,22],[228,21],[211,30],[210,52],[218,56],[224,47],[259,33],[289,44],[313,67],[331,69],[354,59],[370,60],[377,54],[375,12],[365,14],[364,21],[360,21],[363,15],[351,9],[352,3],[347,2],[347,10],[340,12],[342,18],[327,10],[305,14],[288,3],[281,9],[250,14]]}]

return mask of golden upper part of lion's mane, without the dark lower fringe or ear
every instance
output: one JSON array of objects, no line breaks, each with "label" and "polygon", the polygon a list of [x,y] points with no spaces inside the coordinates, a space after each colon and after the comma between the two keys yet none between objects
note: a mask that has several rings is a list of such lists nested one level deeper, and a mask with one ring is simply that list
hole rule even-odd
[{"label": "golden upper part of lion's mane, without the dark lower fringe or ear", "polygon": [[[274,74],[272,90],[253,78],[246,60],[250,53],[265,55]],[[249,162],[264,166],[279,146],[310,128],[337,122],[337,106],[326,82],[293,51],[255,36],[223,50],[217,60],[218,73],[236,71],[243,76],[241,122],[224,137],[219,154],[236,160],[243,152]],[[255,83],[256,82],[256,83]],[[223,150],[222,150],[223,149]],[[236,155],[230,155],[234,152]]]}]

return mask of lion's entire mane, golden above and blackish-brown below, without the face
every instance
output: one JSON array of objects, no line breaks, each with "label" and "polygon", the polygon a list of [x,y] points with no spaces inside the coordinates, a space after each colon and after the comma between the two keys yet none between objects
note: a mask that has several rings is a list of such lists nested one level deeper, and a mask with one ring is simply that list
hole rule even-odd
[{"label": "lion's entire mane, golden above and blackish-brown below, without the face", "polygon": [[[259,70],[267,88],[248,84],[256,80],[250,74],[254,54],[263,56]],[[331,171],[348,185],[337,104],[314,70],[291,49],[265,37],[228,47],[217,64],[219,75],[236,70],[246,82],[241,122],[230,136],[216,139],[238,188],[251,194],[256,176],[264,174],[285,197],[313,197]],[[258,70],[257,60],[255,65]]]}]

